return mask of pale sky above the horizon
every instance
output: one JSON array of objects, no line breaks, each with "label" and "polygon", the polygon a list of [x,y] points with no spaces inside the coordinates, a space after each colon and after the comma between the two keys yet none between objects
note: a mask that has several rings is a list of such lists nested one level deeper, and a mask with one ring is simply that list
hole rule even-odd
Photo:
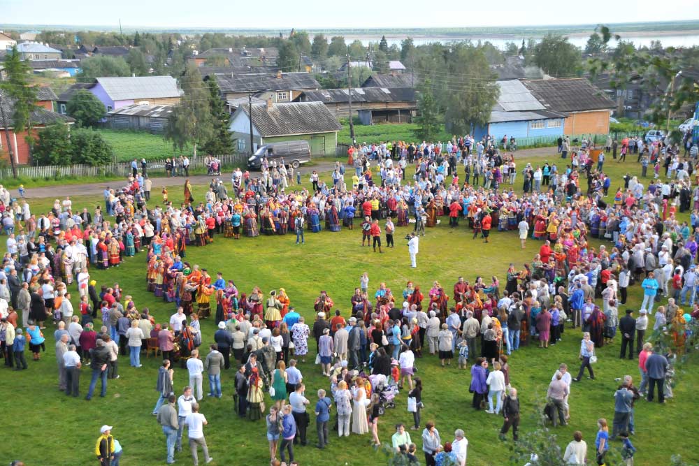
[{"label": "pale sky above the horizon", "polygon": [[[484,4],[485,3],[485,4]],[[577,6],[577,8],[576,8]],[[356,8],[355,8],[356,7]],[[652,15],[649,13],[652,12]],[[0,24],[69,24],[177,29],[533,26],[699,19],[699,1],[587,0],[0,0]]]}]

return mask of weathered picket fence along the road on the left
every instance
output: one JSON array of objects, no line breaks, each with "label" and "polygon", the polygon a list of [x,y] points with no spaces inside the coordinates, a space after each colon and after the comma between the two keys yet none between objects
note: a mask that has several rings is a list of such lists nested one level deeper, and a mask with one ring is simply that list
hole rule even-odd
[{"label": "weathered picket fence along the road on the left", "polygon": [[[245,167],[247,162],[247,154],[230,154],[219,155],[217,159],[221,161],[221,170],[232,170],[236,166]],[[140,161],[138,163],[140,171]],[[90,166],[85,163],[76,163],[74,165],[60,166],[18,166],[17,177],[23,180],[45,180],[70,177],[101,177],[105,175],[117,175],[127,177],[131,173],[131,162],[115,162],[100,166]],[[165,160],[149,160],[147,162],[148,175],[164,175]],[[206,164],[204,157],[199,156],[189,159],[189,173],[206,173]],[[0,180],[12,179],[12,168],[0,168]]]}]

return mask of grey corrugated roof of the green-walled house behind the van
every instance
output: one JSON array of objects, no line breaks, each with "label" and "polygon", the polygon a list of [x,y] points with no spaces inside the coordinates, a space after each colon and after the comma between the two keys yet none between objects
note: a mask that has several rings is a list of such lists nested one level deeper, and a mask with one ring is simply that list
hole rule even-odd
[{"label": "grey corrugated roof of the green-walled house behind the van", "polygon": [[[250,115],[248,105],[238,111]],[[340,131],[342,125],[321,102],[275,103],[252,105],[252,123],[263,137],[313,134]]]}]

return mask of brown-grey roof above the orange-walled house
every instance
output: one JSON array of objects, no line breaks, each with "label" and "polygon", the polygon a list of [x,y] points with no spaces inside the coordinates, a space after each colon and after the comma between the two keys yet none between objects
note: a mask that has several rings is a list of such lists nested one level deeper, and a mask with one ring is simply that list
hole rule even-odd
[{"label": "brown-grey roof above the orange-walled house", "polygon": [[521,80],[521,83],[545,105],[556,112],[612,110],[616,107],[605,92],[585,78]]}]

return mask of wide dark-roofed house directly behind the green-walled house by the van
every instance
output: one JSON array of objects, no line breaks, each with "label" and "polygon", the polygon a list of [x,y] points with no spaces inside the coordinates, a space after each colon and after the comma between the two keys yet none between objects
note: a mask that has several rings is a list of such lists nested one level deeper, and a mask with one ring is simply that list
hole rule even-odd
[{"label": "wide dark-roofed house directly behind the green-walled house by the van", "polygon": [[[205,80],[211,79],[208,76]],[[321,86],[310,73],[248,73],[236,75],[215,75],[225,101],[248,94],[259,99],[272,99],[274,102],[291,102],[301,92],[315,91]]]}]

